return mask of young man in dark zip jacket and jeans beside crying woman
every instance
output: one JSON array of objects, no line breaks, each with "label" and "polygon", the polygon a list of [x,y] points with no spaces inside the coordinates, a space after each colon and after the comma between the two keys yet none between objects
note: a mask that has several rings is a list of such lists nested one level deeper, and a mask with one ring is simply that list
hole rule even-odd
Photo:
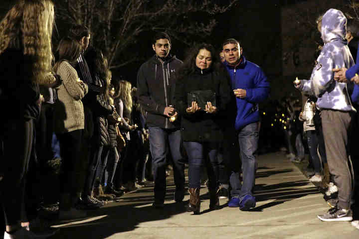
[{"label": "young man in dark zip jacket and jeans beside crying woman", "polygon": [[150,131],[150,149],[155,179],[156,208],[162,208],[166,196],[166,155],[170,149],[176,184],[175,200],[184,197],[184,162],[180,145],[178,113],[175,105],[176,74],[182,62],[170,55],[171,39],[164,32],[153,39],[156,54],[145,62],[137,74],[139,103],[147,112],[146,122]]}]

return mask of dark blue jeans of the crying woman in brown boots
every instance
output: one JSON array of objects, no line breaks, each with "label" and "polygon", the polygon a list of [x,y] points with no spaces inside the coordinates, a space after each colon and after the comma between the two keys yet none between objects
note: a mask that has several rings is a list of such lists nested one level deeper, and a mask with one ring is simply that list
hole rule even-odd
[{"label": "dark blue jeans of the crying woman in brown boots", "polygon": [[[218,187],[218,147],[199,142],[183,142],[183,146],[188,155],[189,188],[200,187],[202,167],[206,165],[209,189],[214,191]],[[206,160],[207,155],[209,162]]]}]

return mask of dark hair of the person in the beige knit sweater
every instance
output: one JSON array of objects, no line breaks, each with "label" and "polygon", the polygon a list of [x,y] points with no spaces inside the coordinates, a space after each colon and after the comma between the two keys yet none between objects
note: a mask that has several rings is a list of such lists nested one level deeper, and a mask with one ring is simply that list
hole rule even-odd
[{"label": "dark hair of the person in the beige knit sweater", "polygon": [[59,61],[67,60],[73,64],[81,53],[81,45],[69,37],[61,39],[57,46]]}]

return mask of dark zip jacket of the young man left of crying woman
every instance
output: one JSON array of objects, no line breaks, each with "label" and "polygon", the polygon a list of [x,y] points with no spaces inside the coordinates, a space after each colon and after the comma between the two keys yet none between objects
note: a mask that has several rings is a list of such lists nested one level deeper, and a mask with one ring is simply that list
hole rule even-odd
[{"label": "dark zip jacket of the young man left of crying woman", "polygon": [[175,105],[176,78],[181,64],[182,61],[175,56],[169,56],[162,62],[155,55],[140,67],[137,74],[138,97],[139,103],[147,112],[148,126],[179,127],[171,123],[163,113],[165,107]]}]

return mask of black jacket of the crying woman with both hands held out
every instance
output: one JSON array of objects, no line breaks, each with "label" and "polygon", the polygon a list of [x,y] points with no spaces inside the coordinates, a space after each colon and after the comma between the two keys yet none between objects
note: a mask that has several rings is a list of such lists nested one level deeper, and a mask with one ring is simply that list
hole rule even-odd
[{"label": "black jacket of the crying woman with both hands held out", "polygon": [[[227,121],[226,110],[231,99],[229,77],[224,71],[219,73],[209,69],[202,72],[197,69],[176,84],[176,106],[182,116],[182,138],[183,141],[221,142]],[[218,108],[215,114],[207,114],[204,109],[194,114],[186,113],[187,93],[199,90],[215,92]]]}]

